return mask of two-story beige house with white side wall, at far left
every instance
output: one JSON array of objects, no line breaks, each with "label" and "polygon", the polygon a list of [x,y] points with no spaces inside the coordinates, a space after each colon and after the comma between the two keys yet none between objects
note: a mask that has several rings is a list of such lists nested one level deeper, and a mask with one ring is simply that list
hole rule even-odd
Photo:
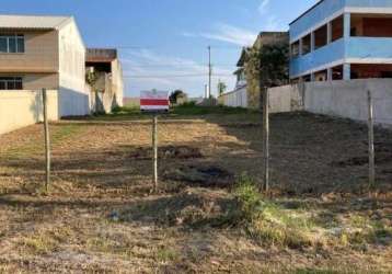
[{"label": "two-story beige house with white side wall, at far left", "polygon": [[73,18],[0,15],[0,90],[57,90],[60,117],[90,114],[84,59]]}]

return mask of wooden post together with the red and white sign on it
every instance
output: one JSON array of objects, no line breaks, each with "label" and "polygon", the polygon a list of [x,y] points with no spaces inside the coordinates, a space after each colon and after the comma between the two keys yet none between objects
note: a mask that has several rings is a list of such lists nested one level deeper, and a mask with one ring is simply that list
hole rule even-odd
[{"label": "wooden post together with the red and white sign on it", "polygon": [[158,191],[158,114],[169,112],[169,92],[166,91],[141,91],[140,110],[153,113],[152,118],[152,170],[154,191]]}]

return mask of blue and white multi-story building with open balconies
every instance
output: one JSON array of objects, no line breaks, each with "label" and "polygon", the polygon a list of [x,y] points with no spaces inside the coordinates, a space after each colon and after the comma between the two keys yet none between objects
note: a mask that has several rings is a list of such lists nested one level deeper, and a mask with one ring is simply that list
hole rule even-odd
[{"label": "blue and white multi-story building with open balconies", "polygon": [[321,0],[290,24],[296,82],[392,77],[392,1]]}]

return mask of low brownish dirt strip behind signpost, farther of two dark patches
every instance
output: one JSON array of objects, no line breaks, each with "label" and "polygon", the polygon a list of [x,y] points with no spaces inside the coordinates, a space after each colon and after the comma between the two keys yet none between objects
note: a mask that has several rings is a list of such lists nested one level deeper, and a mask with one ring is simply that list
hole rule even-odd
[{"label": "low brownish dirt strip behind signpost, farther of two dark patches", "polygon": [[[158,157],[160,159],[197,159],[203,158],[199,148],[189,146],[164,146],[158,148]],[[152,148],[138,147],[130,151],[129,158],[132,159],[151,159]]]}]

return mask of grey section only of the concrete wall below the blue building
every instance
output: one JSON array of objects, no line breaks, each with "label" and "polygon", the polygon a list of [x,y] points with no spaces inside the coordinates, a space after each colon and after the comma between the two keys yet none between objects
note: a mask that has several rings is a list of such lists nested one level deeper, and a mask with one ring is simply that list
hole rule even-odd
[{"label": "grey section only of the concrete wall below the blue building", "polygon": [[367,91],[374,98],[374,122],[392,125],[392,80],[368,79],[350,81],[311,82],[304,84],[304,110],[367,121]]}]

